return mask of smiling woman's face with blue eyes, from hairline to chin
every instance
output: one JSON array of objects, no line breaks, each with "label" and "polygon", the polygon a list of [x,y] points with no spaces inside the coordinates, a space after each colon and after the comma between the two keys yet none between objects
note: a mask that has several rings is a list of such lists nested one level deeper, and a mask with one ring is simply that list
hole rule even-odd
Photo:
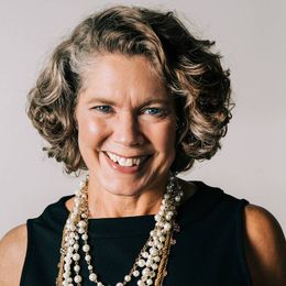
[{"label": "smiling woman's face with blue eyes, from hairline to chin", "polygon": [[84,74],[78,142],[97,189],[163,188],[175,158],[174,102],[143,56],[106,54]]}]

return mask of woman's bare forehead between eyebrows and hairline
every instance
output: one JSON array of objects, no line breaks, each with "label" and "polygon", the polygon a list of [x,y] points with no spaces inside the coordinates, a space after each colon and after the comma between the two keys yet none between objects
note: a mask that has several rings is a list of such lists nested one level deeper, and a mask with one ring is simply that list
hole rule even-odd
[{"label": "woman's bare forehead between eyebrows and hairline", "polygon": [[113,98],[117,96],[166,97],[160,73],[144,56],[122,54],[97,55],[81,74],[84,94]]}]

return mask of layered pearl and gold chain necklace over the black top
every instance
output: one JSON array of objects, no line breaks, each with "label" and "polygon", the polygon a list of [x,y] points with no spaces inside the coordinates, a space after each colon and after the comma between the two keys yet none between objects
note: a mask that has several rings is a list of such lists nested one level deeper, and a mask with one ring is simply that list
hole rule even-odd
[{"label": "layered pearl and gold chain necklace over the black top", "polygon": [[[166,191],[161,202],[160,211],[154,216],[155,228],[138,255],[131,271],[116,286],[128,285],[136,280],[139,286],[163,284],[166,276],[166,266],[170,245],[174,243],[173,232],[178,226],[175,222],[177,207],[182,200],[183,191],[174,174],[170,174]],[[86,262],[90,282],[97,286],[105,286],[91,264],[90,245],[88,244],[88,176],[80,183],[75,194],[74,209],[66,221],[62,248],[59,271],[56,279],[57,286],[82,285],[79,262]],[[81,240],[81,243],[80,243]],[[80,249],[82,252],[80,252]],[[82,264],[81,264],[82,265]]]}]

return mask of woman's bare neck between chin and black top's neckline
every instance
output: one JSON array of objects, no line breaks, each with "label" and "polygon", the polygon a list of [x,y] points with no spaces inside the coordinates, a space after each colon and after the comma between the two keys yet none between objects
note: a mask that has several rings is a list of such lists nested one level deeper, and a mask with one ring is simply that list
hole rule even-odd
[{"label": "woman's bare neck between chin and black top's neckline", "polygon": [[150,189],[136,195],[117,195],[88,183],[90,218],[120,218],[157,213],[165,188]]}]

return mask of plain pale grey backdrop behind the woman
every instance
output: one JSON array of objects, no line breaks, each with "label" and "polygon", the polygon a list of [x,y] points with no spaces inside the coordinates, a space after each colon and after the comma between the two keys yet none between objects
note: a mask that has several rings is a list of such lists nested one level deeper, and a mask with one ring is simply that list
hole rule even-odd
[{"label": "plain pale grey backdrop behind the woman", "polygon": [[196,35],[217,42],[237,107],[222,150],[184,177],[263,206],[285,232],[285,1],[1,0],[0,237],[77,188],[78,179],[42,152],[45,142],[25,114],[26,94],[53,47],[111,4],[175,10]]}]

